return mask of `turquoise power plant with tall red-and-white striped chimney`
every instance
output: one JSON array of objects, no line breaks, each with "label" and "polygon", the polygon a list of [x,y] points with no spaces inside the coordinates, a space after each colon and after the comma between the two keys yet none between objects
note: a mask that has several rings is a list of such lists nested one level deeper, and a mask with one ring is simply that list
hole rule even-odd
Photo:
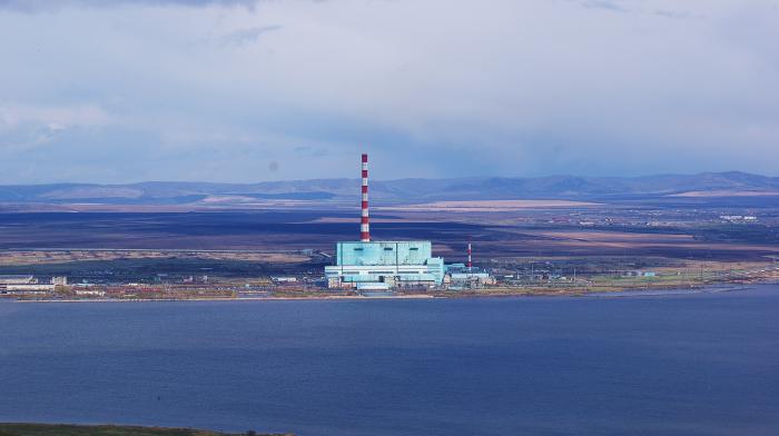
[{"label": "turquoise power plant with tall red-and-white striped chimney", "polygon": [[[371,240],[368,214],[368,156],[362,156],[362,204],[359,241],[336,242],[335,265],[325,267],[327,287],[332,289],[388,290],[404,287],[441,287],[448,283],[450,267],[460,270],[462,264],[446,266],[433,257],[428,240]],[[472,269],[469,242],[469,275]],[[477,277],[483,272],[474,272]],[[483,280],[483,278],[482,278]]]}]

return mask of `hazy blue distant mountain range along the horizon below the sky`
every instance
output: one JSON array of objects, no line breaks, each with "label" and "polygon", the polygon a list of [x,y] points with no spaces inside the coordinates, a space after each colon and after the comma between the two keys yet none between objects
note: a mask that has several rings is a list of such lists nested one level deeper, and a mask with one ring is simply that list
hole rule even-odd
[{"label": "hazy blue distant mountain range along the horizon below the sky", "polygon": [[[357,179],[315,179],[258,184],[152,181],[129,185],[53,184],[0,186],[2,204],[241,205],[283,200],[354,202]],[[779,177],[704,172],[644,177],[538,178],[472,177],[375,180],[371,198],[385,204],[444,200],[739,197],[779,195]]]}]

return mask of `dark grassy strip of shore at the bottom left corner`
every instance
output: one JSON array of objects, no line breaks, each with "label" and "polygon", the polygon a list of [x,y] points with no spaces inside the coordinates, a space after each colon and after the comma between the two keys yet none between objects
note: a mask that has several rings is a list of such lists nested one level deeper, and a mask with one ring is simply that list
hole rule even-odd
[{"label": "dark grassy strip of shore at the bottom left corner", "polygon": [[[238,436],[255,435],[227,434],[191,428],[131,427],[131,426],[86,426],[63,424],[0,424],[0,436]],[[256,436],[263,436],[256,434]],[[270,436],[270,435],[265,435]],[[276,435],[282,436],[282,435]]]}]

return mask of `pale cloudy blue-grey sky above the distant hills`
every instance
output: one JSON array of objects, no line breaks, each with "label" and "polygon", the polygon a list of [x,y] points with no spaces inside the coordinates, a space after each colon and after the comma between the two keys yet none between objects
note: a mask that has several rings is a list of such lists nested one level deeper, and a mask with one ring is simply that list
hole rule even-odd
[{"label": "pale cloudy blue-grey sky above the distant hills", "polygon": [[779,176],[779,0],[0,0],[0,184]]}]

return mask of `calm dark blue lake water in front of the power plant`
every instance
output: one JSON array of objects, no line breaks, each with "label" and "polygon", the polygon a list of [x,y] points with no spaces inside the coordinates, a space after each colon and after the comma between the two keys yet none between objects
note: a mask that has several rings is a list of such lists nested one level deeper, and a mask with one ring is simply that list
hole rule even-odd
[{"label": "calm dark blue lake water in front of the power plant", "polygon": [[0,420],[298,435],[777,435],[779,287],[0,301]]}]

